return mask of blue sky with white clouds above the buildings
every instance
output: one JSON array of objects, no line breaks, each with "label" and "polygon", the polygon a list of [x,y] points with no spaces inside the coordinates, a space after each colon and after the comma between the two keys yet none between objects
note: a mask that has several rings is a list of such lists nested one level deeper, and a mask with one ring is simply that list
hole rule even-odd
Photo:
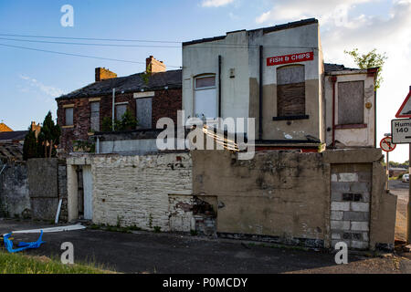
[{"label": "blue sky with white clouds above the buildings", "polygon": [[[60,8],[67,4],[74,7],[73,27],[60,25]],[[321,24],[325,61],[353,66],[353,61],[343,54],[344,49],[353,47],[364,52],[375,47],[389,57],[384,68],[385,82],[378,92],[380,140],[390,131],[390,120],[411,85],[410,12],[411,0],[2,0],[0,34],[187,41],[316,17]],[[182,62],[181,49],[170,47],[90,47],[5,39],[0,39],[0,44],[142,63],[153,55],[169,66],[181,66]],[[0,120],[13,130],[25,130],[31,120],[41,122],[48,110],[56,117],[54,99],[93,82],[96,67],[110,68],[119,76],[144,69],[142,64],[2,46],[0,64]],[[399,145],[391,158],[406,161],[407,146]]]}]

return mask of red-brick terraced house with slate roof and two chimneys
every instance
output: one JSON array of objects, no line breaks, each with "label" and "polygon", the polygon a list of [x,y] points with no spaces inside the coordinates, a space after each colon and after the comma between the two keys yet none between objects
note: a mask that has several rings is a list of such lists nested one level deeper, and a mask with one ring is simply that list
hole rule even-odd
[{"label": "red-brick terraced house with slate roof and two chimneys", "polygon": [[137,130],[155,129],[163,117],[176,121],[182,108],[181,70],[166,71],[153,56],[146,65],[146,72],[127,77],[96,68],[94,83],[56,99],[63,152],[73,151],[77,141],[94,141],[90,136],[102,130],[104,118],[120,120],[126,111],[137,119]]}]

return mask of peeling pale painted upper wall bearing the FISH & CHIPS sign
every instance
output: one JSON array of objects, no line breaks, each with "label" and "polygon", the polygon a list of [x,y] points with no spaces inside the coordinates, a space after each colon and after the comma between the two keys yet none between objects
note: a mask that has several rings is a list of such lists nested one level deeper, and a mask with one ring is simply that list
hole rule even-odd
[{"label": "peeling pale painted upper wall bearing the FISH & CHIPS sign", "polygon": [[[227,46],[236,45],[237,47]],[[263,139],[303,140],[314,137],[324,140],[322,71],[323,59],[318,23],[290,26],[287,29],[241,30],[227,33],[214,40],[183,46],[183,110],[186,119],[195,109],[195,77],[216,74],[221,79],[221,117],[255,118],[258,133],[259,118],[259,46],[263,47]],[[268,57],[313,52],[312,61],[304,65],[305,107],[309,119],[273,120],[277,112],[277,68],[267,66]],[[221,76],[218,76],[218,56],[222,57]],[[234,70],[235,74],[231,74]],[[290,118],[289,118],[290,120]],[[247,131],[247,127],[246,127]]]}]

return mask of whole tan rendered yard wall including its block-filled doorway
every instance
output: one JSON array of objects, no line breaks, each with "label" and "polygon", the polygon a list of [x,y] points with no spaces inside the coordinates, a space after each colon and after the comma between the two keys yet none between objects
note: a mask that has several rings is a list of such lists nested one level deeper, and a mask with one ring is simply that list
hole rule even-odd
[{"label": "whole tan rendered yard wall including its block-filled doorway", "polygon": [[[381,150],[261,151],[250,161],[227,151],[192,156],[193,193],[216,196],[220,236],[327,248],[337,239],[356,249],[394,247],[396,197],[384,190]],[[344,201],[344,193],[361,197]]]}]

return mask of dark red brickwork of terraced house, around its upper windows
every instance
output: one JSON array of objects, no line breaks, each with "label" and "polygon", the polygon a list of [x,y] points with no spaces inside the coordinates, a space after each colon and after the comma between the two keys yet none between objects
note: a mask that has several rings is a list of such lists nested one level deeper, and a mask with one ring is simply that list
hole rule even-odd
[{"label": "dark red brickwork of terraced house, around its upper windows", "polygon": [[[67,153],[73,150],[73,141],[89,141],[90,130],[90,102],[100,98],[100,127],[104,117],[112,115],[112,96],[100,96],[79,99],[59,99],[58,100],[58,125],[61,129],[60,149]],[[128,101],[128,110],[136,115],[136,101],[133,93],[116,94],[116,103]],[[66,115],[64,106],[74,104],[73,123],[70,128],[64,127],[66,124]],[[181,89],[159,90],[155,91],[153,97],[153,128],[157,120],[163,117],[169,117],[177,122],[177,110],[182,109],[182,92]]]}]

